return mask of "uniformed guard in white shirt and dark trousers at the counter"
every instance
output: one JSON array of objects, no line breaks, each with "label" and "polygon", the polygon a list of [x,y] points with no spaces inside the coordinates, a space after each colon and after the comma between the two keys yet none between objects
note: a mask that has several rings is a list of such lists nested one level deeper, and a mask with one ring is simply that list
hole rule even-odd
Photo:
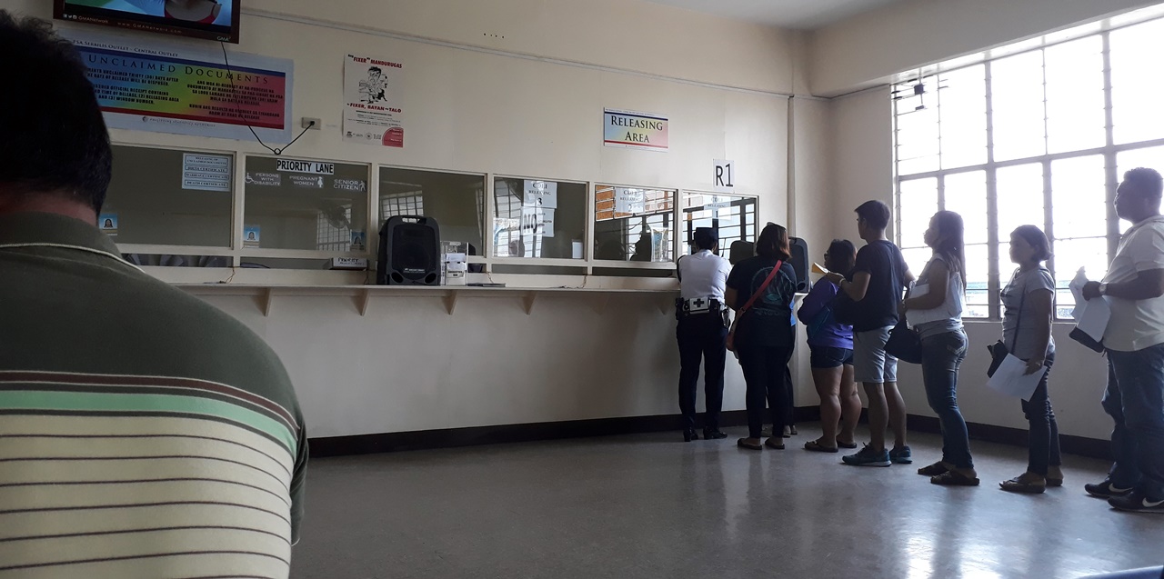
[{"label": "uniformed guard in white shirt and dark trousers at the counter", "polygon": [[719,409],[724,401],[724,360],[728,356],[728,308],[724,287],[731,264],[714,253],[719,236],[710,227],[696,228],[695,252],[679,258],[680,299],[675,301],[679,327],[679,408],[683,413],[683,439],[698,439],[695,431],[695,384],[700,363],[705,363],[703,391],[707,414],[704,438],[724,438],[719,431]]}]

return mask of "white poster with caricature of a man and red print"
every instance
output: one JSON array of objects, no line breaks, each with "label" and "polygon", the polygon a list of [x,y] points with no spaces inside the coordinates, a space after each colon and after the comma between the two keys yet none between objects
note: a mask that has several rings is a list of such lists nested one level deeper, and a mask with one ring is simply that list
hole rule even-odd
[{"label": "white poster with caricature of a man and red print", "polygon": [[343,141],[404,146],[400,120],[404,65],[363,56],[343,58]]}]

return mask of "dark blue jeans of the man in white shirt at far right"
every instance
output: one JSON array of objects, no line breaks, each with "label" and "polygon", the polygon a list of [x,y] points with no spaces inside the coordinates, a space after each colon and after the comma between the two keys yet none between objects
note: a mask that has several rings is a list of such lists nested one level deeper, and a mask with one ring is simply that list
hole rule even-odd
[{"label": "dark blue jeans of the man in white shirt at far right", "polygon": [[1103,410],[1115,420],[1108,478],[1164,499],[1164,344],[1134,352],[1107,351]]}]

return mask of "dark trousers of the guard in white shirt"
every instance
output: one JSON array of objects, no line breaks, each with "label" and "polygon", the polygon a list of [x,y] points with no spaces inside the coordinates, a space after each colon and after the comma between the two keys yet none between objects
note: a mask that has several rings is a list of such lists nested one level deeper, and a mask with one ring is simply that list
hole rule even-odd
[{"label": "dark trousers of the guard in white shirt", "polygon": [[703,393],[707,414],[705,430],[719,429],[719,410],[724,405],[724,360],[728,357],[728,328],[723,316],[715,313],[696,314],[679,319],[675,328],[679,339],[679,409],[683,414],[683,429],[695,428],[695,385],[700,380],[700,363],[704,362]]}]

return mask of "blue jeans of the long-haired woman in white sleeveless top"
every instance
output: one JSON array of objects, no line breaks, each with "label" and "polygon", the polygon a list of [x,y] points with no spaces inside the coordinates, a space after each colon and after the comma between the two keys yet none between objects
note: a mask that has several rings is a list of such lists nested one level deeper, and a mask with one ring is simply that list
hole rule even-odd
[{"label": "blue jeans of the long-haired woman in white sleeveless top", "polygon": [[944,331],[922,338],[922,380],[925,399],[942,424],[942,460],[958,469],[973,469],[970,434],[958,410],[958,367],[966,359],[966,333]]}]

